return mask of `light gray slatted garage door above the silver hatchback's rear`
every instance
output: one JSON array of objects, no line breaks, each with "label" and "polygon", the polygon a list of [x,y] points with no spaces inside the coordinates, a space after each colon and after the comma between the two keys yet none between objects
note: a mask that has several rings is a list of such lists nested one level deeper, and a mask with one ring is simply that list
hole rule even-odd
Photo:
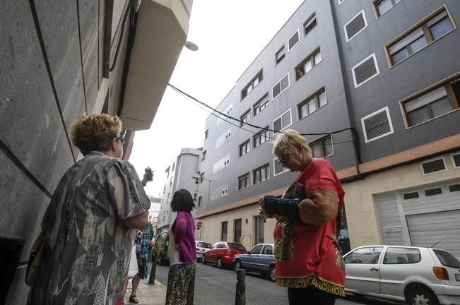
[{"label": "light gray slatted garage door above the silver hatchback's rear", "polygon": [[413,246],[432,246],[460,259],[460,210],[406,216]]}]

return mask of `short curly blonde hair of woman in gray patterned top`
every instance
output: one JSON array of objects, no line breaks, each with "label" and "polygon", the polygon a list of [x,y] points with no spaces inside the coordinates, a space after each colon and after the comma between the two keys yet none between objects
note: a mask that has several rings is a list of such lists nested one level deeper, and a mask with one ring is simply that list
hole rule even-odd
[{"label": "short curly blonde hair of woman in gray patterned top", "polygon": [[122,120],[109,114],[82,114],[70,128],[72,143],[83,155],[110,150],[113,138],[121,131]]}]

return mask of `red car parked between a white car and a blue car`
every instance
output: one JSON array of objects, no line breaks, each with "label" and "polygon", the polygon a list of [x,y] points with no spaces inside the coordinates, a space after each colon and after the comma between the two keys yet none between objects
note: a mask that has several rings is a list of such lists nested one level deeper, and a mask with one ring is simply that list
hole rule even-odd
[{"label": "red car parked between a white car and a blue car", "polygon": [[246,253],[246,248],[242,244],[218,241],[213,244],[213,249],[208,249],[203,253],[203,263],[215,263],[217,268],[223,265],[232,265],[233,256]]}]

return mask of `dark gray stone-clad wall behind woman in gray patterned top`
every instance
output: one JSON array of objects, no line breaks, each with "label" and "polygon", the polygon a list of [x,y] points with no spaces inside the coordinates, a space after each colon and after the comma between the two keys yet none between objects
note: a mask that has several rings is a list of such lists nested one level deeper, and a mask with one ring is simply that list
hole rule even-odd
[{"label": "dark gray stone-clad wall behind woman in gray patterned top", "polygon": [[30,246],[78,157],[69,126],[93,111],[102,80],[105,1],[33,3],[38,28],[30,1],[0,0],[0,237],[25,241],[6,304],[25,304]]}]

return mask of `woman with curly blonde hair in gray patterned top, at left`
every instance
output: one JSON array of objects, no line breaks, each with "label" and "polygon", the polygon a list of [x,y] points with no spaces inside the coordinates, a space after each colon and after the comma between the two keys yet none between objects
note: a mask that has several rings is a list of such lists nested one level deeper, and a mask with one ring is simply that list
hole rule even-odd
[{"label": "woman with curly blonde hair in gray patterned top, at left", "polygon": [[134,167],[121,160],[122,121],[80,116],[71,126],[83,153],[62,177],[42,220],[46,248],[28,304],[117,304],[135,229],[150,201]]}]

